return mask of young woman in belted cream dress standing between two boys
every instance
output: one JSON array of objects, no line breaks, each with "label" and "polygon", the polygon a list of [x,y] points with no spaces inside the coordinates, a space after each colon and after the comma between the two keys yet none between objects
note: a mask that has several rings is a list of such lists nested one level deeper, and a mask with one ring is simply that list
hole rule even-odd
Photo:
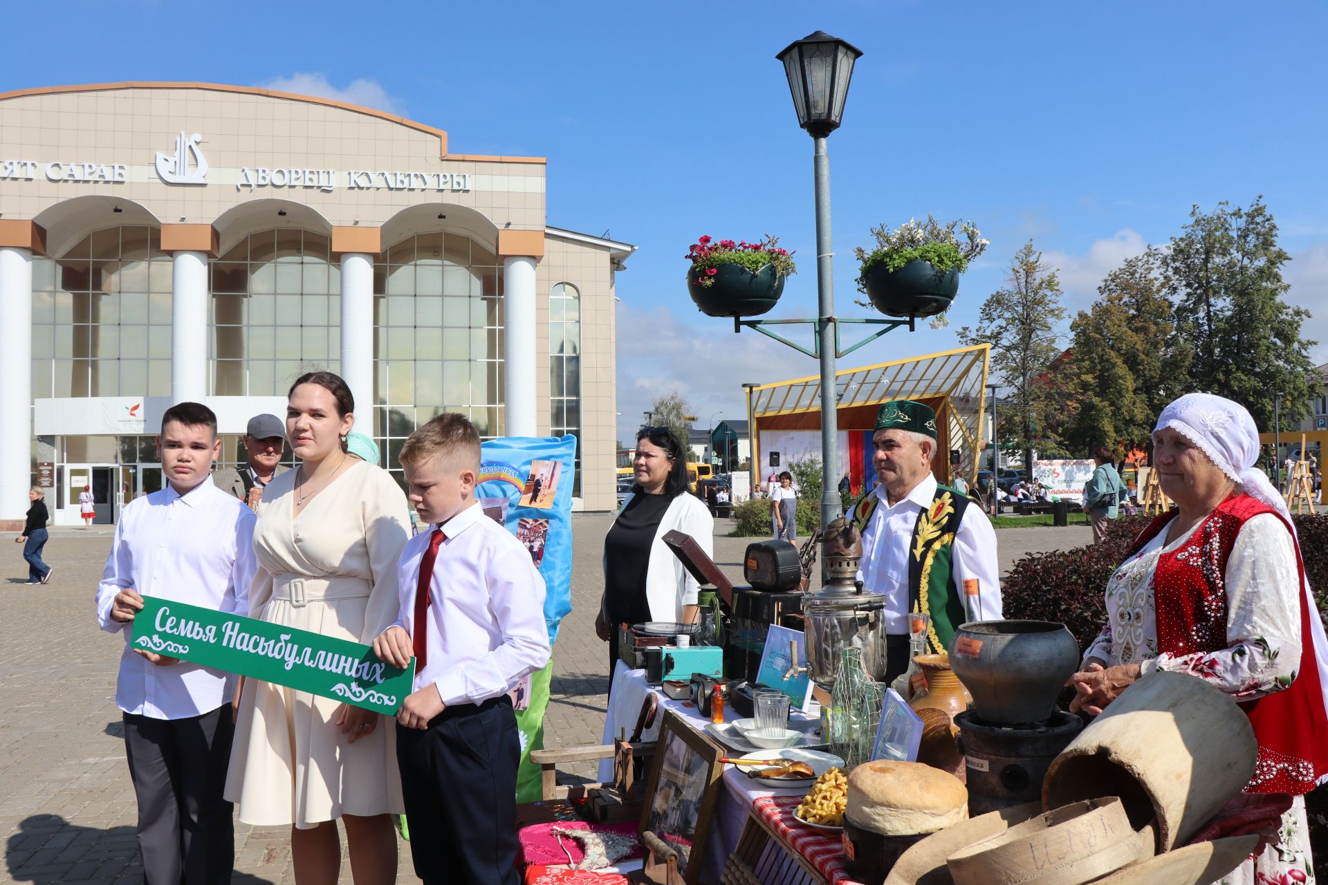
[{"label": "young woman in belted cream dress standing between two boys", "polygon": [[[410,531],[388,471],[345,450],[353,409],[349,387],[329,372],[291,387],[286,433],[301,464],[272,479],[259,502],[250,617],[372,642],[396,620],[396,565]],[[390,815],[404,805],[392,723],[254,679],[236,705],[226,797],[239,819],[291,825],[296,881],[317,885],[337,881],[341,819],[356,884],[396,881]]]}]

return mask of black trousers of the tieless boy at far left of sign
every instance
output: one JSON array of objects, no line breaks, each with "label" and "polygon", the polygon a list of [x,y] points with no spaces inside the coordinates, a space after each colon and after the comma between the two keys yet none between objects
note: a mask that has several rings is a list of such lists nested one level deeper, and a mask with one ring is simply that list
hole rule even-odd
[{"label": "black trousers of the tieless boy at far left of sign", "polygon": [[124,716],[143,881],[230,882],[235,825],[222,791],[235,735],[231,705],[187,719]]}]

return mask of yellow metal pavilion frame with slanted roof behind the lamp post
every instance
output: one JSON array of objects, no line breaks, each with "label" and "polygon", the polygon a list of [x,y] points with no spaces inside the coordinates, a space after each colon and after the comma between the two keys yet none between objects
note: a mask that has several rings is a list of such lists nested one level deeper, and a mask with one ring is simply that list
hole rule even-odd
[{"label": "yellow metal pavilion frame with slanted roof behind the lamp post", "polygon": [[[835,373],[837,409],[871,406],[890,399],[943,397],[951,447],[960,448],[959,472],[976,482],[987,417],[987,375],[991,345],[980,344],[920,357],[878,362]],[[748,390],[748,444],[752,468],[760,463],[761,418],[821,410],[821,375],[791,378]],[[955,443],[963,442],[963,446]],[[753,479],[753,483],[756,479]]]}]

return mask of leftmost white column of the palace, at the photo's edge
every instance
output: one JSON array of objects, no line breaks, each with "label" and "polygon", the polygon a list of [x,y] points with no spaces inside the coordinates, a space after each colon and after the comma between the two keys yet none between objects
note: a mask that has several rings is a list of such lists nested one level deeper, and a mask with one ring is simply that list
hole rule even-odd
[{"label": "leftmost white column of the palace, at the photo's edge", "polygon": [[0,524],[21,529],[32,472],[32,249],[0,248]]}]

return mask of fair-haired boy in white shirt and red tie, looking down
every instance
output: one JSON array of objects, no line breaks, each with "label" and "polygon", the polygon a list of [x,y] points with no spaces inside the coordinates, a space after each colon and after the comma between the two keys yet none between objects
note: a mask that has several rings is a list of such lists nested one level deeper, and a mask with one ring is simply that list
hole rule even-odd
[{"label": "fair-haired boy in white shirt and red tie, looking down", "polygon": [[530,552],[475,500],[479,434],[442,414],[400,462],[430,531],[406,543],[401,612],[373,641],[414,691],[397,711],[397,766],[416,874],[517,885],[519,739],[509,691],[548,662],[544,580]]}]

